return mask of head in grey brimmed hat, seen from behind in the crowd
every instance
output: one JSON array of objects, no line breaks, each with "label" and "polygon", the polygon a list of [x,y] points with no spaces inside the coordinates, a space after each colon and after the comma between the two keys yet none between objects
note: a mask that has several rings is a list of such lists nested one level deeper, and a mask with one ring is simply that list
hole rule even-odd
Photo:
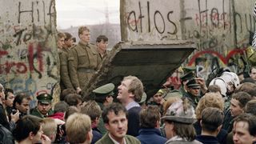
[{"label": "head in grey brimmed hat, seen from behind in the crowd", "polygon": [[185,98],[174,102],[167,110],[166,115],[162,117],[165,123],[166,138],[178,136],[186,138],[188,141],[193,141],[196,137],[193,123],[194,108]]}]

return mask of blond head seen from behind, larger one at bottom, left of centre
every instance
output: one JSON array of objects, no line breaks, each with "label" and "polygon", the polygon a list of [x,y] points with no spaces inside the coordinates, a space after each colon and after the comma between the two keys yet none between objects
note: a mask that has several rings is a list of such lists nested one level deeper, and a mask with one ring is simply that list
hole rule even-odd
[{"label": "blond head seen from behind, larger one at bottom, left of centre", "polygon": [[90,144],[93,138],[90,117],[86,114],[71,114],[66,120],[66,137],[70,143]]}]

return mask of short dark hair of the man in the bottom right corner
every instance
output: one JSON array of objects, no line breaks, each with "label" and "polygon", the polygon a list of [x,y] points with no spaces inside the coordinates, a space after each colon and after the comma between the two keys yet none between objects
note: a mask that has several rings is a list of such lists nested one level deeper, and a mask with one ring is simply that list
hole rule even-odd
[{"label": "short dark hair of the man in the bottom right corner", "polygon": [[256,136],[256,117],[252,114],[240,114],[238,117],[234,118],[234,124],[236,122],[247,122],[248,130],[250,135]]}]

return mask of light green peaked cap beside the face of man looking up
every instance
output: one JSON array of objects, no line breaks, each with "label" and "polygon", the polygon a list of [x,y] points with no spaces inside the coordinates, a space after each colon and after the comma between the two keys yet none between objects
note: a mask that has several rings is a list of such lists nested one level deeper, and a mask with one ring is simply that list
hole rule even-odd
[{"label": "light green peaked cap beside the face of man looking up", "polygon": [[93,93],[96,96],[108,96],[108,95],[114,95],[114,84],[108,83],[103,86],[99,86],[97,89],[93,90]]}]

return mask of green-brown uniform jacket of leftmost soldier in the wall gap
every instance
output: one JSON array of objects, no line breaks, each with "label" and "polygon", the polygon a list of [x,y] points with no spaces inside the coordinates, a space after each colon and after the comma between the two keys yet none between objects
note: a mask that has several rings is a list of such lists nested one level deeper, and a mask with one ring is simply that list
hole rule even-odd
[{"label": "green-brown uniform jacket of leftmost soldier in the wall gap", "polygon": [[60,62],[60,77],[61,77],[61,82],[60,86],[62,89],[74,89],[71,80],[70,80],[70,74],[68,70],[68,58],[69,58],[69,49],[67,48],[62,48],[59,53],[59,62]]}]

